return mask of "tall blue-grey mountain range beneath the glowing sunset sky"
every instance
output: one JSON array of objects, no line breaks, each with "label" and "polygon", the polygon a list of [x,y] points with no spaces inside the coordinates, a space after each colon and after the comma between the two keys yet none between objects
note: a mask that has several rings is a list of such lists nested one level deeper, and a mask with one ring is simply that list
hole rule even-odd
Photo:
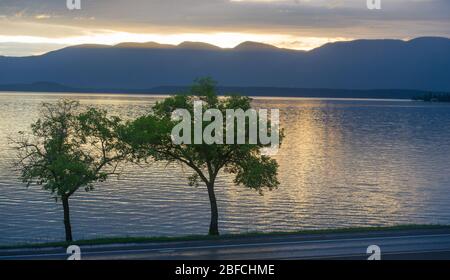
[{"label": "tall blue-grey mountain range beneath the glowing sunset sky", "polygon": [[196,42],[122,43],[0,57],[3,85],[47,81],[69,88],[136,91],[189,85],[202,76],[240,88],[450,91],[449,73],[450,39],[439,37],[336,42],[311,51],[255,42],[233,49]]}]

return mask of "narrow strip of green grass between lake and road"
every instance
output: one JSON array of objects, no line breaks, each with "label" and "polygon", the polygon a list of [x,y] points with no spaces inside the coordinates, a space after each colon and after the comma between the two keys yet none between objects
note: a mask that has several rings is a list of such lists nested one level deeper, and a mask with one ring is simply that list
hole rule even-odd
[{"label": "narrow strip of green grass between lake and road", "polygon": [[207,235],[189,235],[182,237],[110,237],[89,240],[77,240],[73,243],[67,242],[49,242],[49,243],[26,243],[17,245],[0,246],[0,249],[34,249],[50,247],[67,247],[71,244],[76,245],[110,245],[110,244],[139,244],[139,243],[157,243],[157,242],[176,242],[176,241],[201,241],[201,240],[222,240],[238,239],[246,237],[269,237],[283,235],[314,235],[314,234],[332,234],[332,233],[366,233],[380,231],[401,231],[401,230],[425,230],[425,229],[450,229],[450,225],[398,225],[391,227],[354,227],[323,230],[300,230],[289,232],[249,232],[243,234],[225,234],[221,236]]}]

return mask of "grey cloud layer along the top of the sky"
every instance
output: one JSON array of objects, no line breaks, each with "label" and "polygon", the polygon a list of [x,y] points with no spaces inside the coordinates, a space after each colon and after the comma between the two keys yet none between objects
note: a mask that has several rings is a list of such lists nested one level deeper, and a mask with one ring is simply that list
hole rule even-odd
[{"label": "grey cloud layer along the top of the sky", "polygon": [[366,0],[81,0],[81,11],[68,11],[65,0],[2,0],[0,14],[33,18],[49,14],[67,24],[95,17],[105,24],[162,25],[188,28],[348,27],[380,21],[448,22],[448,0],[382,0],[370,11]]}]

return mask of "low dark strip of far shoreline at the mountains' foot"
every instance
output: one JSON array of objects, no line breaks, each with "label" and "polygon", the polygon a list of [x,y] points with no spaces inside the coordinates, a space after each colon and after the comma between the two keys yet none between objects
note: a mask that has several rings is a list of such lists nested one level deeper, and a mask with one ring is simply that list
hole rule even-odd
[{"label": "low dark strip of far shoreline at the mountains' foot", "polygon": [[[122,93],[122,94],[174,94],[188,91],[184,86],[161,86],[149,89],[119,88],[75,88],[57,83],[39,82],[32,84],[0,85],[0,91],[8,92],[53,92],[53,93]],[[418,90],[345,90],[345,89],[305,89],[281,87],[219,87],[219,93],[247,96],[317,97],[317,98],[375,98],[412,99],[432,94]],[[434,93],[439,94],[439,93]]]}]

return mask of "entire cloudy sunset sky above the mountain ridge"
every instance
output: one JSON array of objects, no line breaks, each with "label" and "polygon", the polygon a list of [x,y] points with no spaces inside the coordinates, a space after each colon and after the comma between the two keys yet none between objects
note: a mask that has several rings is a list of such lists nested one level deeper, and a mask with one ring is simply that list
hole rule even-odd
[{"label": "entire cloudy sunset sky above the mountain ridge", "polygon": [[202,41],[234,47],[259,41],[309,50],[360,38],[450,37],[450,1],[382,0],[0,0],[0,55],[64,46]]}]

